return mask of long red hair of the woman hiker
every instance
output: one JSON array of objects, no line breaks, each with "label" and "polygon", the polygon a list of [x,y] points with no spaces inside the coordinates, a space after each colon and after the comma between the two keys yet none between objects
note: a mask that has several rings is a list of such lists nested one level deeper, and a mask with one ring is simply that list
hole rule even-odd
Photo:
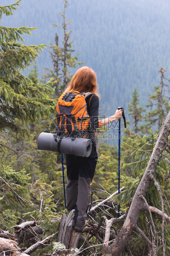
[{"label": "long red hair of the woman hiker", "polygon": [[96,74],[93,69],[88,66],[83,66],[78,69],[71,79],[65,92],[93,92],[100,97],[98,92]]}]

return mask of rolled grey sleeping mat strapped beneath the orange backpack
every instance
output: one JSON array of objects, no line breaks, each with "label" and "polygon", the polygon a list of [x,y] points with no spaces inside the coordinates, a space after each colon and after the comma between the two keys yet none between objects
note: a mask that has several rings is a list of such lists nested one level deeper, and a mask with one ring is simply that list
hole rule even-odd
[{"label": "rolled grey sleeping mat strapped beneath the orange backpack", "polygon": [[[53,133],[40,133],[37,142],[37,148],[40,150],[50,150],[58,152],[58,143],[54,139]],[[59,141],[60,135],[57,135]],[[60,143],[60,152],[76,156],[90,156],[92,152],[92,142],[89,139],[76,137],[63,137]]]}]

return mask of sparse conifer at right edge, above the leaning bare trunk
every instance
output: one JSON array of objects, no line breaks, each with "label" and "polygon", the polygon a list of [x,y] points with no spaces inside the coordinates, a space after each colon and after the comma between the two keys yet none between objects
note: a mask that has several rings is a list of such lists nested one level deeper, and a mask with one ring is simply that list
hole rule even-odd
[{"label": "sparse conifer at right edge, above the leaning bare trunk", "polygon": [[142,126],[145,132],[146,129],[148,130],[148,128],[154,126],[157,128],[157,131],[159,131],[170,109],[170,105],[168,103],[170,100],[170,97],[168,96],[170,90],[167,89],[168,85],[164,83],[164,79],[168,80],[164,77],[166,70],[161,67],[158,72],[161,73],[161,84],[158,86],[154,85],[154,94],[149,95],[149,104],[147,107],[150,107],[151,109],[153,108],[153,110],[150,110],[145,116],[146,124]]}]

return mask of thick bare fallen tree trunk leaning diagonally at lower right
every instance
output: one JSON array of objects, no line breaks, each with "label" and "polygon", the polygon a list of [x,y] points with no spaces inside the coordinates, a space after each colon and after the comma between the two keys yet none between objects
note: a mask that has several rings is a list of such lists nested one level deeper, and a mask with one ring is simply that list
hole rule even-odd
[{"label": "thick bare fallen tree trunk leaning diagonally at lower right", "polygon": [[165,122],[162,125],[159,137],[157,139],[156,145],[152,152],[151,158],[145,170],[145,173],[138,185],[138,188],[135,192],[135,195],[132,199],[129,212],[127,214],[124,225],[120,229],[115,241],[110,246],[103,247],[103,253],[105,255],[120,256],[122,251],[126,247],[126,244],[131,237],[133,230],[136,230],[138,216],[142,208],[145,207],[145,203],[142,199],[142,196],[145,197],[147,188],[151,183],[151,179],[156,171],[156,168],[159,164],[161,154],[165,149],[165,142],[168,142],[168,135],[170,134],[170,111],[168,116],[165,119]]}]

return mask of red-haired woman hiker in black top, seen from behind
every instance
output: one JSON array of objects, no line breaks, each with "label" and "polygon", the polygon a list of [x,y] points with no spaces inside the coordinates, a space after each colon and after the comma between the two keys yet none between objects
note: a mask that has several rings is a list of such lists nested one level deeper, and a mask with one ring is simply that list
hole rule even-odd
[{"label": "red-haired woman hiker in black top, seen from behind", "polygon": [[86,225],[87,209],[89,205],[90,183],[94,177],[98,159],[96,128],[105,126],[122,117],[122,109],[116,110],[113,116],[98,120],[99,93],[96,74],[93,69],[83,66],[76,71],[65,92],[91,92],[85,98],[87,111],[91,119],[91,129],[88,131],[92,140],[92,152],[89,157],[66,154],[67,164],[67,210],[75,209],[75,230],[81,232]]}]

